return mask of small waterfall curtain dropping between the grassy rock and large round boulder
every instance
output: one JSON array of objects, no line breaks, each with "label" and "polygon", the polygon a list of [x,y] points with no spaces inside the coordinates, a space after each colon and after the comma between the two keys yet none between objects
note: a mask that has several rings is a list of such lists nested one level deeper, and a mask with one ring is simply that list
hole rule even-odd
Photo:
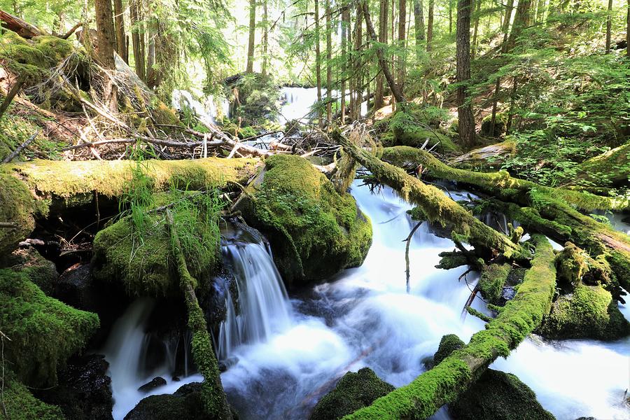
[{"label": "small waterfall curtain dropping between the grassy rock and large round boulder", "polygon": [[290,323],[288,297],[271,255],[260,243],[223,246],[223,260],[236,277],[240,311],[228,292],[228,308],[218,339],[220,359],[228,359],[241,344],[265,341]]}]

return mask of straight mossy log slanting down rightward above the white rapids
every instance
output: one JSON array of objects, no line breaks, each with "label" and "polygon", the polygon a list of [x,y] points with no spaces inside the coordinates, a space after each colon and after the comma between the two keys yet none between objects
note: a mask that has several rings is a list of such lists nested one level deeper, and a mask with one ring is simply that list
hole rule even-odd
[{"label": "straight mossy log slanting down rightward above the white rapids", "polygon": [[458,239],[472,244],[475,248],[479,247],[491,253],[499,251],[507,258],[519,258],[524,255],[519,244],[514,244],[505,235],[484,225],[472,216],[470,211],[444,195],[441,190],[428,186],[419,179],[409,176],[402,169],[379,160],[339,132],[332,135],[346,152],[369,169],[377,180],[397,190],[405,200],[419,206],[428,221],[448,226],[458,235]]}]

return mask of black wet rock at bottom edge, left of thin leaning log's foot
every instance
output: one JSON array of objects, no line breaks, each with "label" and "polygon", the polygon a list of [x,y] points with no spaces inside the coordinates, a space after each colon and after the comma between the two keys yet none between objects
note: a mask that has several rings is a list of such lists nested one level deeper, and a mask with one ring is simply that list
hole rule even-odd
[{"label": "black wet rock at bottom edge, left of thin leaning log's foot", "polygon": [[181,386],[174,394],[151,395],[141,400],[125,416],[125,420],[209,420],[204,413],[202,384]]}]

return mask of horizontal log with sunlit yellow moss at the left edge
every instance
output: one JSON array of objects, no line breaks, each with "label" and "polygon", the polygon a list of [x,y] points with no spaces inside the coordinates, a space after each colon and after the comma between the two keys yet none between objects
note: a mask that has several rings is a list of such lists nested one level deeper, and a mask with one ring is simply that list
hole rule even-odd
[{"label": "horizontal log with sunlit yellow moss at the left edge", "polygon": [[[198,160],[146,160],[146,176],[153,190],[186,186],[188,190],[223,188],[246,183],[255,173],[253,159],[207,158]],[[0,222],[14,222],[0,228],[0,253],[15,249],[34,229],[36,217],[46,217],[53,204],[72,206],[94,199],[94,192],[120,197],[128,188],[137,162],[34,160],[0,165]]]}]

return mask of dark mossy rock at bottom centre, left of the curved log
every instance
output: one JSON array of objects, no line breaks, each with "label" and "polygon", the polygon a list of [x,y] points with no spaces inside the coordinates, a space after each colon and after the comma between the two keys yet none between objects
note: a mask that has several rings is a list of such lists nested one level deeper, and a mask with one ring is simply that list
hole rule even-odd
[{"label": "dark mossy rock at bottom centre, left of the curved log", "polygon": [[337,382],[335,389],[317,402],[310,420],[336,420],[367,407],[374,400],[394,390],[369,367],[348,372]]}]

